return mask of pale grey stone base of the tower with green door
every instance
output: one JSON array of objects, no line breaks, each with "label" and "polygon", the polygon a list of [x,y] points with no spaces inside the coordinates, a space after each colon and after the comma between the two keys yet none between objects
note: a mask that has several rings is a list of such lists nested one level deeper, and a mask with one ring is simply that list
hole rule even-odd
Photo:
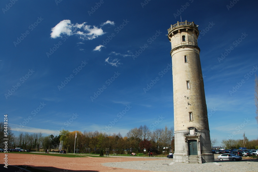
[{"label": "pale grey stone base of the tower with green door", "polygon": [[173,162],[205,163],[214,162],[208,130],[175,131],[175,152]]}]

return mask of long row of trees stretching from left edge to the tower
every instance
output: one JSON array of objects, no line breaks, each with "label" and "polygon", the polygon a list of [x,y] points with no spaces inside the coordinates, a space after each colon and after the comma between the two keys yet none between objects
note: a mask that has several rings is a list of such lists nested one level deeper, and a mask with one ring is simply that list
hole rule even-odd
[{"label": "long row of trees stretching from left edge to the tower", "polygon": [[[4,124],[0,122],[0,129],[2,128],[4,130]],[[77,133],[76,142],[75,132]],[[1,140],[3,140],[2,137],[4,135],[0,134]],[[171,149],[174,150],[174,130],[167,126],[150,131],[148,126],[141,125],[139,128],[131,129],[125,137],[120,132],[107,134],[99,131],[69,132],[68,130],[60,131],[58,136],[43,136],[41,132],[31,134],[21,132],[15,137],[9,127],[8,138],[8,148],[20,147],[35,151],[39,151],[40,148],[58,151],[60,141],[63,141],[62,150],[67,152],[74,152],[74,146],[81,153],[99,153],[99,150],[106,148],[109,148],[111,154],[124,154],[130,151],[140,153],[143,149],[161,154],[168,153]],[[0,146],[4,148],[3,142],[1,144]]]}]

